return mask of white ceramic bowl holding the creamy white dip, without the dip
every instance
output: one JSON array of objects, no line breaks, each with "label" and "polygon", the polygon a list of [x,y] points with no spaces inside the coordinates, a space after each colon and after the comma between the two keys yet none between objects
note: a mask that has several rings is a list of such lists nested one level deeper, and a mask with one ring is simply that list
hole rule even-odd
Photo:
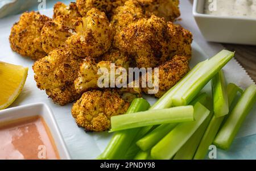
[{"label": "white ceramic bowl holding the creamy white dip, without the dip", "polygon": [[207,41],[256,45],[256,18],[204,14],[206,0],[194,0],[193,16]]}]

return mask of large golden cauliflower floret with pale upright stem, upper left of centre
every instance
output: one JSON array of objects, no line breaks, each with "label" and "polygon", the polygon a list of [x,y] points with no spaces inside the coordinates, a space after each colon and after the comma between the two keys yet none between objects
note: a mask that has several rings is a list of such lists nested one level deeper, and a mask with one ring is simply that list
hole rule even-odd
[{"label": "large golden cauliflower floret with pale upright stem, upper left of centre", "polygon": [[76,33],[66,41],[69,49],[82,58],[97,58],[109,50],[114,30],[104,12],[92,9],[76,23]]}]

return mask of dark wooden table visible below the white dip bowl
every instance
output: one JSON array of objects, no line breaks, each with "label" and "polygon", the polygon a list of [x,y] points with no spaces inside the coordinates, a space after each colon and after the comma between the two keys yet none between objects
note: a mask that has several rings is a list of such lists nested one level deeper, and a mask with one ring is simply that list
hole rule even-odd
[{"label": "dark wooden table visible below the white dip bowl", "polygon": [[[193,3],[193,0],[189,0]],[[256,82],[256,46],[239,44],[222,44],[229,51],[236,51],[236,59]]]}]

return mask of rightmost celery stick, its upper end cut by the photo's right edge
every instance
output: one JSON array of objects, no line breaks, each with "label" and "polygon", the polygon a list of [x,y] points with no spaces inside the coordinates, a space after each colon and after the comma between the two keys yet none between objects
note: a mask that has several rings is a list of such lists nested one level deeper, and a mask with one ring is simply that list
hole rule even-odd
[{"label": "rightmost celery stick, its upper end cut by the photo's right edge", "polygon": [[255,105],[256,85],[251,85],[242,94],[237,105],[218,132],[213,144],[221,149],[229,149],[243,121]]}]

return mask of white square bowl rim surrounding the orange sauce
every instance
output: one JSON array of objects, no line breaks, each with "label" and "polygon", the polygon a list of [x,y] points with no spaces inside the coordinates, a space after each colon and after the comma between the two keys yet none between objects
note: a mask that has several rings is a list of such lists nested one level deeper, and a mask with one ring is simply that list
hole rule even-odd
[{"label": "white square bowl rim surrounding the orange sauce", "polygon": [[63,136],[60,134],[60,130],[57,126],[55,117],[53,116],[51,109],[49,109],[46,104],[35,103],[31,105],[0,110],[0,123],[20,118],[27,118],[30,116],[41,116],[44,119],[47,126],[49,127],[49,130],[51,131],[51,135],[55,142],[57,152],[59,152],[60,159],[70,160],[71,157],[63,140]]}]

